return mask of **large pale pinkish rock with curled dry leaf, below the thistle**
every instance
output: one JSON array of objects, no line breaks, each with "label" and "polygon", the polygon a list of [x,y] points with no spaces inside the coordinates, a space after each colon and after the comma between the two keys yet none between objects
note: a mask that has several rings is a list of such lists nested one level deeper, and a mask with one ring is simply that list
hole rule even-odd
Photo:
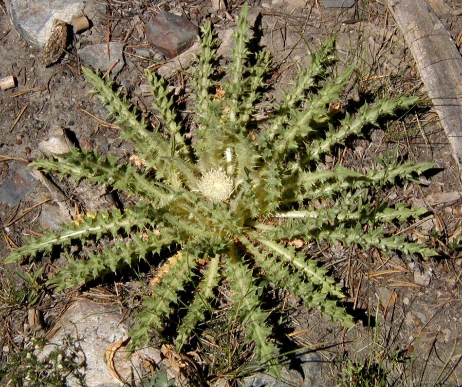
[{"label": "large pale pinkish rock with curled dry leaf, below the thistle", "polygon": [[128,327],[122,320],[117,306],[77,299],[59,317],[53,329],[55,333],[49,337],[50,343],[39,352],[37,350],[37,358],[39,361],[52,359],[49,355],[56,348],[65,347],[65,357],[80,365],[67,376],[66,386],[69,387],[120,387],[121,381],[114,375],[129,383],[132,380],[136,385],[146,374],[144,365],[155,367],[161,364],[162,357],[159,350],[152,348],[128,356],[124,350]]}]

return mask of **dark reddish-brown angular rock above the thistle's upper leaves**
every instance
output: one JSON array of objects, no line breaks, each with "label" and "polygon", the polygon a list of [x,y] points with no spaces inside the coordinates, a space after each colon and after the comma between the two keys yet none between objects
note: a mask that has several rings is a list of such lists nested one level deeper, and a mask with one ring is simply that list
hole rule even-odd
[{"label": "dark reddish-brown angular rock above the thistle's upper leaves", "polygon": [[199,28],[186,18],[162,11],[146,23],[145,34],[153,47],[173,58],[192,46]]}]

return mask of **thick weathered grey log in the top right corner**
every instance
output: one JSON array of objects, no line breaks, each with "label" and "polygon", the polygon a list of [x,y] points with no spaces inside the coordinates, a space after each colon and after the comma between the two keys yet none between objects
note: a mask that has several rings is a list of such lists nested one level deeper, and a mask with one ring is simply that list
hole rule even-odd
[{"label": "thick weathered grey log in the top right corner", "polygon": [[425,0],[388,0],[462,172],[462,58]]}]

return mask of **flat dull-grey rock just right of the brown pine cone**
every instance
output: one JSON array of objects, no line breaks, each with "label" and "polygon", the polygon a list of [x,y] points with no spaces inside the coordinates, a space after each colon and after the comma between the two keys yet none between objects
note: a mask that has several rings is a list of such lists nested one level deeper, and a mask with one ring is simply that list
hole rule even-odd
[{"label": "flat dull-grey rock just right of the brown pine cone", "polygon": [[108,46],[106,43],[92,44],[77,51],[80,60],[85,66],[101,71],[109,70],[112,65],[117,62],[111,70],[111,74],[115,75],[125,65],[124,50],[125,44],[122,42],[110,42],[108,56]]}]

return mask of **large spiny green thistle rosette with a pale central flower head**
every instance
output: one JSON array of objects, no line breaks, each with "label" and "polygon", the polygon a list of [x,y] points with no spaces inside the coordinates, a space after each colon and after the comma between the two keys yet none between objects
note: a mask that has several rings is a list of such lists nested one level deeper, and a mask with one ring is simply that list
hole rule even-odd
[{"label": "large spiny green thistle rosette with a pale central flower head", "polygon": [[[176,110],[166,81],[155,73],[145,72],[154,96],[152,108],[163,124],[152,128],[129,106],[121,88],[83,68],[122,128],[122,139],[134,144],[142,162],[72,149],[59,160],[33,164],[60,177],[105,183],[125,192],[129,200],[123,209],[89,213],[59,232],[46,231],[30,239],[6,262],[50,254],[55,245],[61,246],[68,265],[49,285],[62,290],[137,267],[142,260],[165,257],[174,249],[138,311],[133,345],[147,343],[152,330],[162,330],[171,313],[186,304],[187,313],[176,328],[180,351],[209,317],[217,288],[227,286],[256,357],[273,367],[277,348],[268,339],[272,330],[269,312],[262,307],[262,290],[286,289],[333,321],[354,325],[338,304],[345,297],[340,286],[291,241],[432,255],[429,248],[407,240],[405,233],[392,232],[394,223],[418,217],[425,209],[377,200],[384,187],[399,180],[416,182],[431,165],[399,162],[394,152],[377,158],[368,171],[340,163],[320,168],[320,161],[349,137],[361,136],[365,126],[377,125],[380,118],[418,102],[414,96],[383,97],[354,114],[334,116],[329,104],[340,96],[353,68],[329,74],[332,39],[311,54],[306,68],[298,69],[281,102],[266,112],[268,119],[255,120],[271,59],[266,50],[250,52],[248,29],[244,5],[232,60],[223,76],[216,65],[210,22],[204,25],[202,52],[188,74],[194,110],[188,124]],[[85,245],[89,239],[112,242],[85,256],[67,252],[76,241]],[[190,297],[183,299],[185,290]]]}]

